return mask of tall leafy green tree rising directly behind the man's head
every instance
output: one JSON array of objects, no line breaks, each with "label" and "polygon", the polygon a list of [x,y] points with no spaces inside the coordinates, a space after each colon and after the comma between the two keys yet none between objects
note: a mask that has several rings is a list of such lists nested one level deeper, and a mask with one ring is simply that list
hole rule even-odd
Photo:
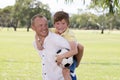
[{"label": "tall leafy green tree rising directly behind the man's head", "polygon": [[[35,14],[43,14],[50,19],[50,11],[47,5],[42,4],[37,0],[16,0],[13,10],[13,23],[15,30],[17,26],[27,26],[27,31],[30,28],[30,19]],[[19,25],[18,25],[19,23]]]}]

